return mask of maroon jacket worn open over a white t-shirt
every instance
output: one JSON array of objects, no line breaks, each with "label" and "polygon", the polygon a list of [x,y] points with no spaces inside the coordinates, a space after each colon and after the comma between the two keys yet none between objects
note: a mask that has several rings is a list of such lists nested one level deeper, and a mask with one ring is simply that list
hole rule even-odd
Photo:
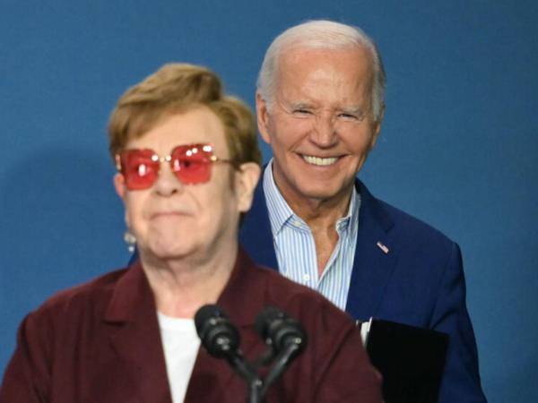
[{"label": "maroon jacket worn open over a white t-shirt", "polygon": [[[267,403],[379,403],[379,375],[360,334],[324,297],[260,270],[240,252],[218,303],[251,360],[265,344],[254,320],[281,307],[308,332],[308,347],[266,397]],[[224,361],[200,348],[186,402],[246,401],[246,387]],[[171,403],[152,290],[140,263],[50,298],[22,322],[4,373],[2,403]]]}]

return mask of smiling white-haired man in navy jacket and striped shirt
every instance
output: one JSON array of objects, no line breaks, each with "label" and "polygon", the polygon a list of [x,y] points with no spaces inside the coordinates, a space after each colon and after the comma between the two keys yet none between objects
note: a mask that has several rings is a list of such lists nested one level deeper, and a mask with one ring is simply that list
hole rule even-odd
[{"label": "smiling white-haired man in navy jacket and striped shirt", "polygon": [[439,401],[483,402],[457,244],[357,179],[385,110],[385,72],[361,30],[309,21],[273,40],[256,91],[273,150],[241,243],[355,319],[449,335]]}]

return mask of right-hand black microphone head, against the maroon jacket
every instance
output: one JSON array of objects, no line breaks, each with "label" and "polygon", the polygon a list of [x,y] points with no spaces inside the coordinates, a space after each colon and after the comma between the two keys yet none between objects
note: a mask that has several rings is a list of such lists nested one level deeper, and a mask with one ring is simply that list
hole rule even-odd
[{"label": "right-hand black microphone head, against the maroon jacket", "polygon": [[296,351],[298,355],[307,346],[307,332],[303,326],[275,306],[267,306],[257,315],[255,328],[265,343],[273,346],[276,353],[290,344],[295,344],[299,347]]}]

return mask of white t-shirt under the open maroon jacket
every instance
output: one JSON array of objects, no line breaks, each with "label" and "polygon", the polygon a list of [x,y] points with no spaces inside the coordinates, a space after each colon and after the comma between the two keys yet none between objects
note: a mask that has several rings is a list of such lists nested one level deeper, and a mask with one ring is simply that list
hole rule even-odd
[{"label": "white t-shirt under the open maroon jacket", "polygon": [[157,313],[162,347],[173,403],[183,403],[195,366],[200,339],[192,319],[172,318]]}]

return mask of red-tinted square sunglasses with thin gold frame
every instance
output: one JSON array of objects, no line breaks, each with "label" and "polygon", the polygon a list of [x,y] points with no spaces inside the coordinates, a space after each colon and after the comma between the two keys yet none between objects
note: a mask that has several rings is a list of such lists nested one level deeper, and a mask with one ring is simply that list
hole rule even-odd
[{"label": "red-tinted square sunglasses with thin gold frame", "polygon": [[174,175],[182,184],[203,184],[211,178],[214,162],[228,162],[213,155],[210,144],[187,144],[176,147],[170,155],[159,156],[150,149],[124,150],[116,154],[116,167],[126,180],[129,190],[152,187],[157,177],[161,162],[169,162]]}]

